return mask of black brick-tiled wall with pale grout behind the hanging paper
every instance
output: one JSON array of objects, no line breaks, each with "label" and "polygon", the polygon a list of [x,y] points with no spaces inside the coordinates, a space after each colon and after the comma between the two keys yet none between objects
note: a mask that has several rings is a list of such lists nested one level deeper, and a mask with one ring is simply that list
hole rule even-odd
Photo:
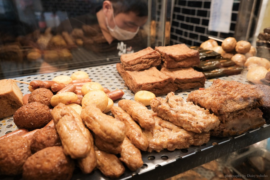
[{"label": "black brick-tiled wall with pale grout behind the hanging paper", "polygon": [[235,32],[240,0],[234,0],[230,33],[213,32],[208,30],[211,0],[176,0],[171,24],[170,45],[185,43],[200,46],[208,40],[208,36],[215,38],[232,37]]}]

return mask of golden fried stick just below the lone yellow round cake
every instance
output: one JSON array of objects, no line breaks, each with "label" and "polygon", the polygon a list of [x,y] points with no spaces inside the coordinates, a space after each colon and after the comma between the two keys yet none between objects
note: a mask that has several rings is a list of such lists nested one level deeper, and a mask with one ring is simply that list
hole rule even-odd
[{"label": "golden fried stick just below the lone yellow round cake", "polygon": [[123,99],[118,102],[118,106],[130,114],[134,121],[139,122],[142,128],[149,131],[155,128],[155,119],[153,115],[142,103]]}]

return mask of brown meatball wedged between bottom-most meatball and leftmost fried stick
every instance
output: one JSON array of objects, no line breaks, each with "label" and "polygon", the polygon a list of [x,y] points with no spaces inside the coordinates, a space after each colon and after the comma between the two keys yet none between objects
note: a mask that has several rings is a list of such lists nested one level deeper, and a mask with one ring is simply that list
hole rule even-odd
[{"label": "brown meatball wedged between bottom-most meatball and leftmost fried stick", "polygon": [[54,127],[43,127],[36,131],[31,141],[31,151],[33,153],[46,147],[60,146],[61,140]]}]

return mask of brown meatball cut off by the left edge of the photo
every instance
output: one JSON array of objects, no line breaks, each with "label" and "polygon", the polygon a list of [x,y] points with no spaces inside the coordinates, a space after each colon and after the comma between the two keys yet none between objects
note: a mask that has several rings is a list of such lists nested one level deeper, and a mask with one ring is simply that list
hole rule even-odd
[{"label": "brown meatball cut off by the left edge of the photo", "polygon": [[17,175],[31,156],[30,142],[21,136],[9,136],[0,140],[0,174]]}]

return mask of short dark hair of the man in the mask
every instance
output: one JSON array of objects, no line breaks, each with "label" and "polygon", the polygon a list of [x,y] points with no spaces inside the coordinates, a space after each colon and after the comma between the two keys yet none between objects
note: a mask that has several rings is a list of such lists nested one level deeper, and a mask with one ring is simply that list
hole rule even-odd
[{"label": "short dark hair of the man in the mask", "polygon": [[148,0],[110,0],[113,4],[114,15],[134,12],[137,16],[148,16]]}]

